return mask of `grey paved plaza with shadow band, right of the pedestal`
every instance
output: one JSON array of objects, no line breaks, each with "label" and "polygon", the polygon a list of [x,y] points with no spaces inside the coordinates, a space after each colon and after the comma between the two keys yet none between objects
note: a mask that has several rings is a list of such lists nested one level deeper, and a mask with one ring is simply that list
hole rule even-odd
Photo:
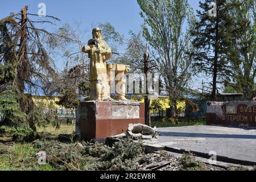
[{"label": "grey paved plaza with shadow band, right of the pedestal", "polygon": [[159,128],[159,139],[147,141],[149,147],[175,152],[192,151],[217,160],[256,165],[256,130],[220,126],[186,126]]}]

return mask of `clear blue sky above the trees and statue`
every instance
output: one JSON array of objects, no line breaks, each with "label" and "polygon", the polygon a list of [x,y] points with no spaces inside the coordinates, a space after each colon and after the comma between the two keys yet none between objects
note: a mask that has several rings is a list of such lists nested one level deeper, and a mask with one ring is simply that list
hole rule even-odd
[{"label": "clear blue sky above the trees and statue", "polygon": [[[198,8],[199,0],[188,1],[193,9]],[[18,13],[25,5],[28,5],[28,13],[38,14],[39,3],[45,3],[46,14],[61,19],[61,23],[76,27],[77,22],[81,22],[80,30],[88,31],[88,36],[98,23],[110,22],[115,30],[125,36],[128,36],[129,30],[139,31],[143,23],[137,0],[5,0],[1,2],[0,19],[10,15],[11,12]],[[55,31],[57,27],[60,27],[60,24],[47,25],[46,29]],[[57,63],[57,65],[63,65],[63,63]],[[195,86],[199,87],[201,78],[196,77],[195,82],[197,82]]]}]

